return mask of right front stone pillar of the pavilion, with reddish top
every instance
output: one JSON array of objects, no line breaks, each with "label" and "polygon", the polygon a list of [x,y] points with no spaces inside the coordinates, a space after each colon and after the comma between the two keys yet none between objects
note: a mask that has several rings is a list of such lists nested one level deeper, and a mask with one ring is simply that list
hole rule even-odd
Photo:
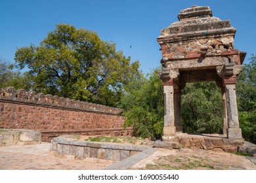
[{"label": "right front stone pillar of the pavilion, with reddish top", "polygon": [[226,93],[226,113],[228,117],[228,139],[242,139],[239,127],[238,107],[236,103],[236,75],[223,78]]}]

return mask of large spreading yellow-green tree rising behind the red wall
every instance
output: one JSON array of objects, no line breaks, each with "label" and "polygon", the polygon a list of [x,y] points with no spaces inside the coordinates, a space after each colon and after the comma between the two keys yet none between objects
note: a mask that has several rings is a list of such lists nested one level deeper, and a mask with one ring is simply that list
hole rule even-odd
[{"label": "large spreading yellow-green tree rising behind the red wall", "polygon": [[40,46],[18,48],[16,67],[28,67],[36,92],[50,93],[116,107],[125,84],[139,77],[139,61],[131,63],[112,42],[96,32],[58,24]]}]

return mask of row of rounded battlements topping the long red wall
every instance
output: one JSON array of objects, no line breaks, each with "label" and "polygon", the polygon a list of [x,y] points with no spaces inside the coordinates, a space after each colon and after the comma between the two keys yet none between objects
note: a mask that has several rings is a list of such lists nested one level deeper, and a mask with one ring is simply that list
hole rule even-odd
[{"label": "row of rounded battlements topping the long red wall", "polygon": [[95,103],[87,103],[75,99],[45,95],[24,89],[15,90],[12,86],[0,88],[0,101],[7,103],[20,103],[25,105],[39,105],[41,107],[65,108],[67,110],[82,110],[103,114],[119,114],[123,110]]}]

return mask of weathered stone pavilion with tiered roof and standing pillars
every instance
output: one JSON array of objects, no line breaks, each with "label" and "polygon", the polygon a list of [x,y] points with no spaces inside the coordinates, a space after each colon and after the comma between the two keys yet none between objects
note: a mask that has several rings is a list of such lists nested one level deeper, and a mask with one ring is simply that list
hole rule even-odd
[{"label": "weathered stone pavilion with tiered roof and standing pillars", "polygon": [[212,15],[209,7],[181,10],[179,22],[161,30],[158,43],[162,59],[165,116],[163,141],[173,141],[182,131],[181,91],[188,82],[217,83],[223,99],[223,134],[229,141],[243,141],[236,103],[236,77],[245,52],[234,49],[236,29],[229,20]]}]

